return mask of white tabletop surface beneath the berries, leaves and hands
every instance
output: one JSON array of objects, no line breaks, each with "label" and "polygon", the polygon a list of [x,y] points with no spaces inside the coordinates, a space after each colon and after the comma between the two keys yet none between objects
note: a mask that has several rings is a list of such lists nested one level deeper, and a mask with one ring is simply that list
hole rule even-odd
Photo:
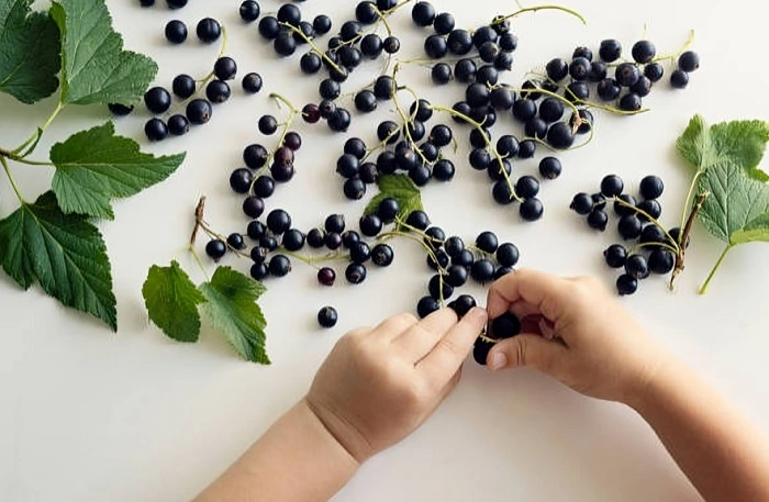
[{"label": "white tabletop surface beneath the berries, leaves and hands", "polygon": [[[158,2],[165,3],[165,2]],[[0,275],[0,500],[9,502],[183,501],[192,498],[280,413],[305,392],[317,366],[348,328],[372,324],[386,315],[412,310],[424,294],[430,272],[410,243],[399,243],[397,261],[374,270],[360,287],[341,285],[321,290],[313,271],[294,264],[294,272],[270,281],[263,306],[269,320],[268,349],[275,364],[259,367],[239,361],[213,333],[201,343],[179,345],[148,324],[141,286],[153,264],[177,258],[197,281],[202,276],[182,252],[201,193],[209,197],[208,217],[222,232],[245,230],[239,199],[227,187],[241,152],[261,142],[256,121],[277,113],[267,94],[279,90],[301,107],[316,99],[315,78],[299,72],[299,55],[277,60],[256,33],[243,25],[237,1],[192,0],[170,12],[158,4],[142,10],[134,0],[109,1],[114,24],[126,45],[155,57],[158,82],[169,86],[178,72],[209,71],[215,47],[200,46],[194,36],[180,47],[163,40],[163,26],[174,18],[191,26],[204,15],[229,27],[231,48],[245,71],[265,78],[265,91],[244,97],[239,86],[233,100],[214,112],[212,123],[183,140],[169,141],[155,153],[187,150],[188,161],[166,183],[115,204],[116,221],[100,224],[110,248],[120,331],[112,334],[90,317],[64,310],[38,288],[22,293]],[[441,1],[465,27],[515,10],[514,2]],[[710,122],[767,119],[769,71],[765,36],[769,7],[738,0],[706,7],[706,2],[649,0],[592,2],[567,0],[589,20],[582,26],[556,12],[522,16],[514,22],[521,37],[515,71],[505,81],[517,85],[522,75],[551,57],[570,55],[577,45],[598,47],[605,37],[626,46],[643,36],[644,25],[660,52],[676,52],[695,29],[694,48],[703,66],[692,75],[690,89],[677,92],[659,86],[643,116],[615,119],[601,114],[595,142],[561,156],[565,174],[543,186],[544,221],[527,225],[513,210],[495,207],[484,175],[454,157],[459,166],[452,185],[431,185],[424,201],[433,221],[466,239],[481,230],[497,231],[522,250],[522,265],[557,274],[594,274],[611,286],[615,274],[602,264],[601,250],[615,239],[587,228],[567,209],[577,191],[595,191],[601,178],[621,174],[635,189],[647,174],[667,182],[662,220],[677,226],[690,172],[677,158],[676,137],[694,113]],[[263,10],[277,10],[265,0]],[[308,16],[326,12],[336,26],[353,14],[352,2],[310,1]],[[410,9],[392,21],[403,41],[402,57],[422,57],[420,33]],[[343,15],[345,18],[343,18]],[[358,83],[377,74],[367,64]],[[450,105],[462,88],[436,89],[428,74],[414,68],[403,80],[433,102]],[[354,89],[353,85],[346,90]],[[404,98],[408,104],[408,99]],[[24,107],[0,97],[0,144],[15,146],[54,107],[48,100]],[[380,105],[376,118],[354,114],[353,132],[374,141],[376,123],[390,115]],[[44,159],[51,144],[109,119],[103,108],[71,108],[49,130],[35,158]],[[142,138],[144,112],[121,120],[122,134]],[[499,131],[513,130],[504,118]],[[298,154],[296,181],[281,187],[270,208],[288,209],[300,227],[310,228],[331,212],[350,220],[363,210],[341,194],[335,159],[346,135],[332,135],[323,124],[299,126],[304,146]],[[461,132],[461,133],[460,133]],[[143,140],[142,140],[143,141]],[[144,141],[143,141],[144,143]],[[267,143],[270,144],[270,143]],[[516,164],[517,172],[534,172],[536,161]],[[49,181],[44,168],[16,166],[14,172],[27,199]],[[0,214],[15,209],[10,187],[0,177]],[[701,228],[694,235],[687,271],[678,291],[668,292],[659,278],[644,282],[640,292],[623,302],[654,336],[700,370],[720,391],[762,424],[769,423],[769,267],[761,244],[735,249],[710,294],[696,287],[715,263],[722,245]],[[244,261],[233,265],[246,271]],[[482,291],[477,290],[482,298]],[[317,309],[337,306],[336,330],[321,332]],[[707,403],[702,403],[706,406]],[[342,502],[379,501],[649,501],[696,500],[698,495],[650,430],[621,405],[584,399],[550,379],[527,370],[492,376],[475,364],[466,367],[457,391],[436,415],[401,445],[366,465],[336,498]]]}]

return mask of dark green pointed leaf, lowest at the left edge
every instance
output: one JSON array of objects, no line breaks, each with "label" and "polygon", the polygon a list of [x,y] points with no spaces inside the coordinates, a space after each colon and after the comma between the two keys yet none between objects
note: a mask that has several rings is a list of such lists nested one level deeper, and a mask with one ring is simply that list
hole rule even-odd
[{"label": "dark green pointed leaf, lowest at the left edge", "polygon": [[0,264],[23,288],[49,295],[118,330],[107,246],[85,216],[67,215],[53,192],[0,221]]}]

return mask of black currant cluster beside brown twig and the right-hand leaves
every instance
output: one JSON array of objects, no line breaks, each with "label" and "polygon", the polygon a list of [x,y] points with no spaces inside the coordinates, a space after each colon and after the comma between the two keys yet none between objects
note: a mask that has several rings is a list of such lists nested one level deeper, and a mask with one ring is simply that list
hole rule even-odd
[{"label": "black currant cluster beside brown twig and the right-hand leaves", "polygon": [[[610,267],[624,270],[616,281],[621,295],[634,294],[639,281],[651,274],[670,274],[680,256],[682,238],[681,228],[668,232],[659,223],[662,207],[658,199],[665,190],[660,178],[647,176],[640,181],[639,201],[624,190],[623,180],[609,175],[601,181],[599,193],[578,193],[571,202],[571,209],[587,216],[592,228],[603,232],[609,224],[606,207],[613,201],[613,211],[620,217],[617,233],[625,244],[609,246],[604,258]],[[688,246],[688,237],[687,241]]]}]

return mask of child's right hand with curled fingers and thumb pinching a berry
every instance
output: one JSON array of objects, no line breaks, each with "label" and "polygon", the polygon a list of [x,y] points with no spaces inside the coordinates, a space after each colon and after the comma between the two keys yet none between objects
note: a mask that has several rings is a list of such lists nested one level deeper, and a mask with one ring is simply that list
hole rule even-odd
[{"label": "child's right hand with curled fingers and thumb pinching a berry", "polygon": [[587,395],[627,403],[667,358],[591,278],[520,270],[489,291],[490,319],[513,312],[524,332],[489,353],[492,370],[532,366]]}]

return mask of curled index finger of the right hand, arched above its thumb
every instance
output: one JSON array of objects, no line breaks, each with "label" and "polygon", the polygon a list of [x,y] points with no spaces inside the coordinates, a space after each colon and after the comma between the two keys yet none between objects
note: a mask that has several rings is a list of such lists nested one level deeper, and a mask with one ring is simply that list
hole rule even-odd
[{"label": "curled index finger of the right hand, arched above its thumb", "polygon": [[508,274],[491,286],[486,309],[489,317],[495,319],[508,312],[510,305],[523,302],[556,323],[569,301],[569,282],[559,277],[522,269]]}]

